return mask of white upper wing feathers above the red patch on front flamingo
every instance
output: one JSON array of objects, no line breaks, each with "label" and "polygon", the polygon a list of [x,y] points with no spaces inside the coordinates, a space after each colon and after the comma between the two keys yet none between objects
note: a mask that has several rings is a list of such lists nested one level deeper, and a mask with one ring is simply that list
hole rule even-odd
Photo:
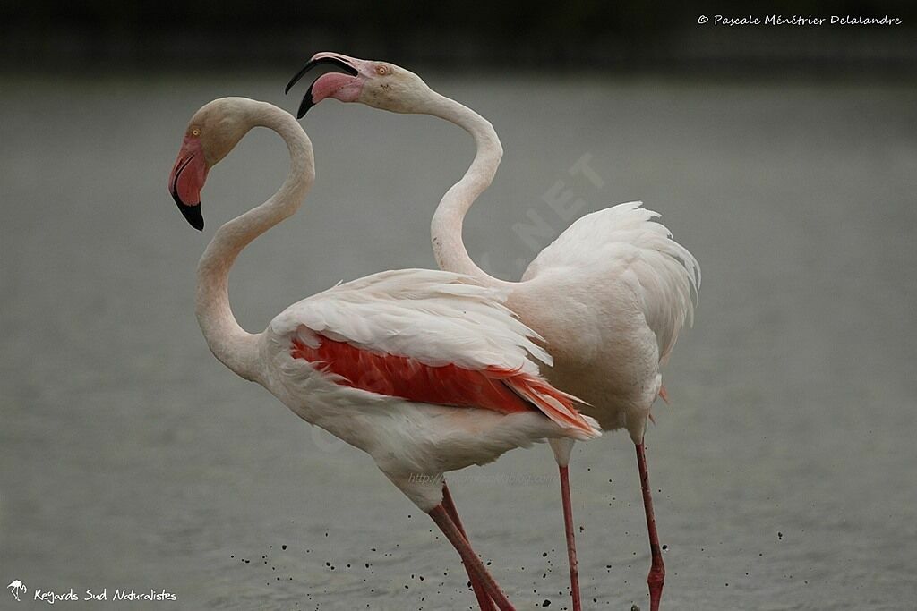
[{"label": "white upper wing feathers above the red patch on front flamingo", "polygon": [[529,339],[536,333],[506,308],[506,295],[460,274],[384,271],[293,304],[268,330],[287,346],[296,332],[315,345],[311,331],[428,366],[499,366],[537,375],[532,358],[550,365],[551,357]]}]

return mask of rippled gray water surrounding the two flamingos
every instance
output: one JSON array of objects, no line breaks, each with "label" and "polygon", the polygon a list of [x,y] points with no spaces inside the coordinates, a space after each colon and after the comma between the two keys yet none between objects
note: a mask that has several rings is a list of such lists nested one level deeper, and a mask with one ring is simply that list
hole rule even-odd
[{"label": "rippled gray water surrounding the two flamingos", "polygon": [[[0,83],[0,579],[29,588],[15,608],[41,606],[36,588],[107,588],[62,608],[473,605],[432,522],[217,363],[194,321],[206,240],[271,194],[286,152],[247,136],[210,174],[199,235],[166,192],[184,125],[227,94],[293,109],[286,76]],[[569,224],[545,201],[558,180],[581,213],[644,200],[701,262],[664,372],[673,405],[647,436],[663,608],[915,608],[913,88],[427,80],[503,138],[465,230],[492,273],[517,278],[547,245],[519,224]],[[354,104],[304,125],[315,189],[234,271],[252,331],[339,279],[433,267],[430,216],[473,150],[453,125]],[[602,188],[569,174],[584,155]],[[569,606],[555,471],[541,447],[452,479],[520,609]],[[572,474],[587,608],[648,608],[633,445],[580,444]],[[112,602],[116,588],[177,601]]]}]

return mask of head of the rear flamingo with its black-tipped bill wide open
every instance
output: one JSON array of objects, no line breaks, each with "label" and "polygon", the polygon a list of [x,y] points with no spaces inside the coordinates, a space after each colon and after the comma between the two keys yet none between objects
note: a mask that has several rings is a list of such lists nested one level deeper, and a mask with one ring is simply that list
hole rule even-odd
[{"label": "head of the rear flamingo with its black-tipped bill wide open", "polygon": [[316,53],[287,84],[286,92],[306,72],[322,65],[335,71],[322,74],[309,86],[297,118],[303,118],[310,108],[326,98],[359,102],[392,113],[423,112],[424,104],[429,101],[430,88],[412,71],[385,61],[358,60],[330,52]]}]

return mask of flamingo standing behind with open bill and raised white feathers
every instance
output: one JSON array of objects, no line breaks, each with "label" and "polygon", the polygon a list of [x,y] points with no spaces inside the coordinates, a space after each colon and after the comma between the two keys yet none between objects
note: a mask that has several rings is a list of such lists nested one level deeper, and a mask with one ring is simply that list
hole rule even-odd
[{"label": "flamingo standing behind with open bill and raised white feathers", "polygon": [[[359,102],[395,113],[433,115],[462,127],[477,153],[470,168],[443,197],[431,225],[436,262],[442,269],[509,291],[507,303],[544,338],[554,357],[545,375],[553,385],[585,400],[581,411],[602,429],[626,428],[635,443],[652,565],[647,584],[657,611],[665,566],[648,484],[644,433],[657,396],[667,399],[664,365],[684,322],[693,316],[701,284],[697,260],[653,223],[656,213],[640,202],[623,203],[583,216],[548,245],[520,282],[493,278],[478,267],[462,241],[462,221],[490,186],[503,157],[493,126],[467,106],[431,90],[416,74],[384,61],[317,53],[287,85],[306,71],[329,64],[340,72],[320,76],[300,104],[299,118],[326,98]],[[568,547],[570,592],[580,611],[579,573],[569,499],[573,442],[552,440],[558,461]]]}]

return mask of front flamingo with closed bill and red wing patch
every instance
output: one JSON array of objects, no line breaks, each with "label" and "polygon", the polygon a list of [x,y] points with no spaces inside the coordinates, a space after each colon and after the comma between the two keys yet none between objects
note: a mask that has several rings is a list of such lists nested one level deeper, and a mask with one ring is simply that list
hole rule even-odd
[{"label": "front flamingo with closed bill and red wing patch", "polygon": [[221,98],[193,115],[169,177],[179,210],[203,229],[207,172],[255,126],[283,138],[291,168],[269,200],[220,227],[201,257],[195,311],[207,345],[300,418],[369,453],[455,546],[481,605],[491,598],[512,609],[471,551],[443,475],[544,438],[591,439],[598,424],[539,375],[536,359],[550,356],[505,295],[456,273],[373,274],[293,304],[262,333],[243,330],[229,307],[229,269],[303,202],[315,179],[312,144],[280,108]]}]

